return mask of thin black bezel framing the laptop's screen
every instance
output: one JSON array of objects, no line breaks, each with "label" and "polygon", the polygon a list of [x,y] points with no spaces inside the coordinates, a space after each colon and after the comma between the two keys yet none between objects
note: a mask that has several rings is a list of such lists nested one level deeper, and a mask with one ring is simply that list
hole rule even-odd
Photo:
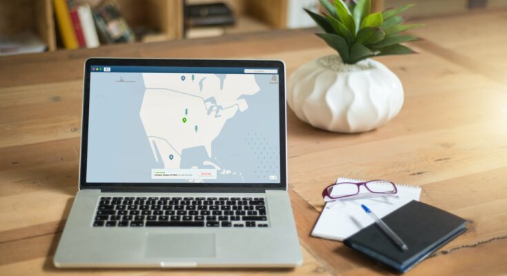
[{"label": "thin black bezel framing the laptop's screen", "polygon": [[[126,183],[126,182],[88,182],[86,166],[88,155],[88,118],[90,106],[90,68],[92,66],[178,66],[178,67],[231,67],[231,68],[277,68],[279,75],[279,138],[280,138],[280,183]],[[232,59],[108,59],[90,58],[85,62],[83,87],[83,117],[81,121],[81,161],[79,169],[79,188],[130,188],[137,190],[170,190],[169,188],[192,188],[192,190],[230,190],[230,188],[261,188],[286,190],[287,188],[287,157],[286,157],[286,92],[285,65],[283,61],[268,60],[232,60]]]}]

